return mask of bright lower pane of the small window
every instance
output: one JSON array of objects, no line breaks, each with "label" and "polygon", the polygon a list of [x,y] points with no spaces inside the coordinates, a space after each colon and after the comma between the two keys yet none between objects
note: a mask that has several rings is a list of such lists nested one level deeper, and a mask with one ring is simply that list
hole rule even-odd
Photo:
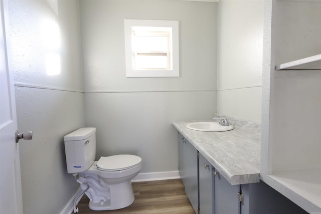
[{"label": "bright lower pane of the small window", "polygon": [[138,69],[169,69],[167,56],[136,56],[135,70]]}]

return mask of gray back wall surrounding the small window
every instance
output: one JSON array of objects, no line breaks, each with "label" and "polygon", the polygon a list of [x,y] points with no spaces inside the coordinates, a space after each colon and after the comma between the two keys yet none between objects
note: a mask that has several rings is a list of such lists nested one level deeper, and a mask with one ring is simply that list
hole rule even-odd
[{"label": "gray back wall surrounding the small window", "polygon": [[[216,112],[217,3],[80,1],[86,126],[97,158],[137,154],[142,173],[178,170],[175,120]],[[180,77],[126,78],[124,19],[178,20]]]}]

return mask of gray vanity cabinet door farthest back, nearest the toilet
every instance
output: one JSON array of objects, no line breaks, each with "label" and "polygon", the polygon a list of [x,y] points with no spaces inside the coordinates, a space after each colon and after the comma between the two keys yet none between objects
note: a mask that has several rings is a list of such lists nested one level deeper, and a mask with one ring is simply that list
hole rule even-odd
[{"label": "gray vanity cabinet door farthest back, nearest the toilet", "polygon": [[198,213],[198,151],[181,133],[179,134],[179,172],[185,192],[195,213]]}]

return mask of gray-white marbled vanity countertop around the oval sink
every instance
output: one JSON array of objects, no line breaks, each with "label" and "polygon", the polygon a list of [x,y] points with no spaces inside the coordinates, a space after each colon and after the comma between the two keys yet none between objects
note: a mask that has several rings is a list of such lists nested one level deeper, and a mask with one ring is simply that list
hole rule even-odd
[{"label": "gray-white marbled vanity countertop around the oval sink", "polygon": [[[173,122],[174,127],[232,185],[260,181],[260,125],[234,120],[231,131],[202,132],[188,129],[196,121]],[[242,127],[242,128],[240,128]]]}]

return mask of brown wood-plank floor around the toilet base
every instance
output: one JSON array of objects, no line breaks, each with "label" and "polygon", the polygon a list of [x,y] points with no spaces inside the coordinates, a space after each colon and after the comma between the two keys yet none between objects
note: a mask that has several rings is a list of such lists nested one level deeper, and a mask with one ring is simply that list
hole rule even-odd
[{"label": "brown wood-plank floor around the toilet base", "polygon": [[[135,201],[128,207],[117,210],[94,211],[88,208],[86,195],[78,203],[79,213],[83,214],[195,214],[184,191],[181,179],[159,180],[132,183]],[[72,212],[73,213],[73,212]]]}]

